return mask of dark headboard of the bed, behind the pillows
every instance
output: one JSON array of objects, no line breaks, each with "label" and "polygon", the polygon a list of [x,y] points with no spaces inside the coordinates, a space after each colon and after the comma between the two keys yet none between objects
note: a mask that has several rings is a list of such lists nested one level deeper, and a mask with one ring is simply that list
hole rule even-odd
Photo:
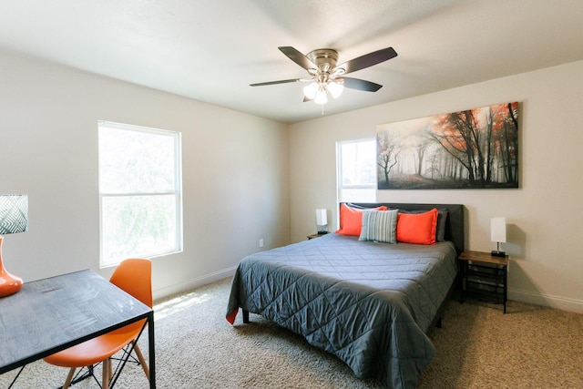
[{"label": "dark headboard of the bed, behind the pillows", "polygon": [[457,253],[464,251],[465,247],[465,230],[464,230],[464,206],[461,204],[405,204],[405,203],[393,203],[393,202],[375,202],[375,203],[363,203],[363,202],[352,202],[347,203],[348,205],[353,204],[358,207],[363,208],[374,208],[381,205],[389,209],[399,209],[399,210],[433,210],[436,209],[446,209],[447,212],[447,222],[445,224],[445,240],[453,241],[455,244],[455,249]]}]

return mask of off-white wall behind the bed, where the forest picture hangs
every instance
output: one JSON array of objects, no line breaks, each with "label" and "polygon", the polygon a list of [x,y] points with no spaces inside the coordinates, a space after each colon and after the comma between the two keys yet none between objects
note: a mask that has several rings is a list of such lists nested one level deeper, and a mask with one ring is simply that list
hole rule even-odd
[{"label": "off-white wall behind the bed, where the forest picture hangs", "polygon": [[506,216],[509,298],[583,312],[582,91],[583,62],[575,62],[292,125],[292,241],[314,232],[316,208],[336,225],[337,141],[373,138],[378,124],[519,101],[519,189],[378,190],[377,200],[465,204],[466,248],[476,251],[496,248],[490,218]]}]

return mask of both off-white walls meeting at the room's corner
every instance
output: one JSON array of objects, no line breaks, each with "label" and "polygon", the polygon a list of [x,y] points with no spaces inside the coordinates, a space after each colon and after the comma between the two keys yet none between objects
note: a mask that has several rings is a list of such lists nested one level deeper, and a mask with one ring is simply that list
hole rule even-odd
[{"label": "both off-white walls meeting at the room's corner", "polygon": [[479,251],[494,248],[490,217],[506,216],[510,298],[583,312],[581,90],[576,62],[302,122],[288,135],[280,123],[0,52],[0,193],[27,193],[30,208],[29,231],[5,237],[5,266],[25,281],[87,268],[109,276],[98,269],[99,119],[182,133],[184,252],[154,259],[161,296],[230,275],[261,238],[266,249],[304,240],[316,208],[334,226],[336,141],[517,100],[520,189],[381,190],[377,200],[463,203],[466,246]]}]

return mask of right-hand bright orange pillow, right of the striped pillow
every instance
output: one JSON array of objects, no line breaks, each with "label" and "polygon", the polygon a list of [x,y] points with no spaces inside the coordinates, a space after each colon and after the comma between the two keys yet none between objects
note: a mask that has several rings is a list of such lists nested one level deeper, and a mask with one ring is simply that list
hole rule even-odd
[{"label": "right-hand bright orange pillow, right of the striped pillow", "polygon": [[435,244],[437,209],[424,213],[397,215],[397,241],[416,244]]}]

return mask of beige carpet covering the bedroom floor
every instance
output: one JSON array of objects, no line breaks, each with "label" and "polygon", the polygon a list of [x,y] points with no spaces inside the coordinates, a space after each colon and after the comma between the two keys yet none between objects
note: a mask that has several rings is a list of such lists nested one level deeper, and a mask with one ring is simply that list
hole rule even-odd
[{"label": "beige carpet covering the bedroom floor", "polygon": [[[156,359],[159,388],[378,388],[334,356],[251,315],[224,319],[230,280],[159,302]],[[509,302],[449,302],[442,329],[430,337],[437,353],[419,388],[583,388],[583,315]],[[147,342],[140,341],[144,353]],[[1,345],[0,345],[1,347]],[[1,350],[0,350],[1,352]],[[6,388],[15,371],[0,376]],[[31,363],[14,388],[55,388],[66,369]],[[147,388],[128,365],[117,388]],[[73,388],[98,388],[91,380]]]}]

